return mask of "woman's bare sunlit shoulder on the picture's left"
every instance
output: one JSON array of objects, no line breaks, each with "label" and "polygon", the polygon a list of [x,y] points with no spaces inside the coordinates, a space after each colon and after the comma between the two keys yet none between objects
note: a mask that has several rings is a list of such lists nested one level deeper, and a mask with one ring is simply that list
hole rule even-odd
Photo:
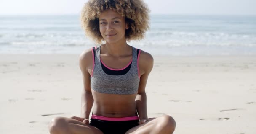
[{"label": "woman's bare sunlit shoulder on the picture's left", "polygon": [[79,56],[79,65],[82,71],[87,70],[93,63],[92,49],[86,49]]}]

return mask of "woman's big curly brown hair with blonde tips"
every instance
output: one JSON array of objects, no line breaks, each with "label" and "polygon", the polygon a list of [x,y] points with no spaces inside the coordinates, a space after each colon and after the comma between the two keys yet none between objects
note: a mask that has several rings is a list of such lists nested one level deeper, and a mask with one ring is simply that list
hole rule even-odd
[{"label": "woman's big curly brown hair with blonde tips", "polygon": [[85,34],[97,43],[103,37],[99,31],[99,16],[102,11],[111,9],[125,17],[128,30],[126,40],[141,40],[149,29],[149,8],[142,0],[89,0],[81,11],[81,24]]}]

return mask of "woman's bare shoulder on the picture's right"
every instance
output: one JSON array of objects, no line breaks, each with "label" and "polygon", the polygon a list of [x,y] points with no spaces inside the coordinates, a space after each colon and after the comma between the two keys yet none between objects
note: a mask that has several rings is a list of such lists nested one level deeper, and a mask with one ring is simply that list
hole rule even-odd
[{"label": "woman's bare shoulder on the picture's right", "polygon": [[[154,65],[154,58],[148,52],[141,50],[139,56],[139,68],[144,73],[151,72]],[[141,74],[142,75],[142,74]]]}]

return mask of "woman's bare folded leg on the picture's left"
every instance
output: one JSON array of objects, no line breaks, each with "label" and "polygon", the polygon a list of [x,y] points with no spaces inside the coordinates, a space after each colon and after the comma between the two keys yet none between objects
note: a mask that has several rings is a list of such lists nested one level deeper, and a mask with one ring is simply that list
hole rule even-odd
[{"label": "woman's bare folded leg on the picture's left", "polygon": [[53,118],[48,128],[51,134],[103,134],[94,126],[66,117]]}]

